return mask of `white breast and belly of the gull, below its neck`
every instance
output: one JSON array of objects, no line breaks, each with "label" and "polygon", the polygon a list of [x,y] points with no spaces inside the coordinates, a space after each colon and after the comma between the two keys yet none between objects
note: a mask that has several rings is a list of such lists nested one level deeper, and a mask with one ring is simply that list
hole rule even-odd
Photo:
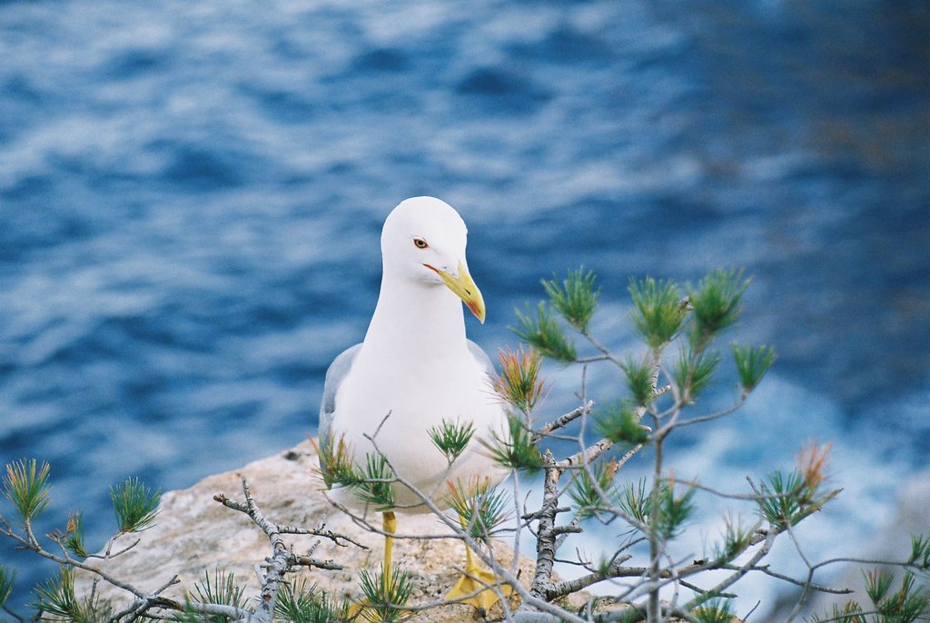
[{"label": "white breast and belly of the gull, below its neck", "polygon": [[[483,365],[472,353],[454,351],[429,361],[378,354],[363,347],[336,395],[333,438],[342,437],[352,447],[356,463],[365,465],[365,454],[375,453],[377,444],[399,476],[442,508],[448,507],[446,481],[468,483],[487,476],[493,482],[501,480],[505,472],[486,456],[478,440],[491,439],[492,428],[500,435],[504,415]],[[469,449],[451,469],[428,432],[443,420],[470,421],[475,431]],[[357,506],[347,492],[334,493],[340,502]],[[394,496],[397,510],[429,511],[405,486],[395,485]],[[410,508],[415,505],[419,508]]]}]

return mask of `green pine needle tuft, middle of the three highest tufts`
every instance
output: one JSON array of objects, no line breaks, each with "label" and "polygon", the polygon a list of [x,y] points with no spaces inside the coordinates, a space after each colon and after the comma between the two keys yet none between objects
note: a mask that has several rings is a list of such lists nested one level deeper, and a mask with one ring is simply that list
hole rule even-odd
[{"label": "green pine needle tuft, middle of the three highest tufts", "polygon": [[631,279],[628,289],[635,306],[633,325],[651,351],[660,350],[678,333],[687,313],[681,290],[671,281],[652,277]]}]

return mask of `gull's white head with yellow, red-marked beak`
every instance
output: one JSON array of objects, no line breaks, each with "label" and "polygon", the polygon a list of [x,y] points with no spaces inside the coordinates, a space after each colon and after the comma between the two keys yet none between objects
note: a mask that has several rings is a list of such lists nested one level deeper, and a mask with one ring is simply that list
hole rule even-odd
[{"label": "gull's white head with yellow, red-marked beak", "polygon": [[406,199],[381,230],[384,277],[424,287],[445,285],[484,323],[485,299],[468,271],[467,242],[465,221],[451,205],[434,197]]}]

